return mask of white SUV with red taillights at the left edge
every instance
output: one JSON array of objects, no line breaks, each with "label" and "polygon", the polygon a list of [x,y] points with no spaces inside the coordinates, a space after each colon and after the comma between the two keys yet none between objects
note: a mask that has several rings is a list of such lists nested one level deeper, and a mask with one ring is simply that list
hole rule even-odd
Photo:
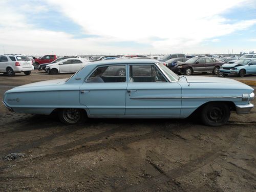
[{"label": "white SUV with red taillights at the left edge", "polygon": [[0,73],[14,76],[15,73],[24,72],[30,75],[34,70],[33,61],[25,55],[0,55]]}]

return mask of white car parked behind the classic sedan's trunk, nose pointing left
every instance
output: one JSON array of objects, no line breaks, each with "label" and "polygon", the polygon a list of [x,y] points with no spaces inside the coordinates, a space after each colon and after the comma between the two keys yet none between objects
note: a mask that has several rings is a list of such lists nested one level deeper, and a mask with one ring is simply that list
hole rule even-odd
[{"label": "white car parked behind the classic sedan's trunk, nose pointing left", "polygon": [[46,66],[45,71],[49,74],[75,73],[83,68],[88,62],[81,58],[68,58]]}]

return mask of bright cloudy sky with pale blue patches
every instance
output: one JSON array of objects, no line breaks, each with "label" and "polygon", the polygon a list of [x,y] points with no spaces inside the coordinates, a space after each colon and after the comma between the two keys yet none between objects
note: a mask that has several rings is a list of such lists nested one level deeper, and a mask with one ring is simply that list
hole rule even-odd
[{"label": "bright cloudy sky with pale blue patches", "polygon": [[256,52],[256,1],[0,0],[0,54]]}]

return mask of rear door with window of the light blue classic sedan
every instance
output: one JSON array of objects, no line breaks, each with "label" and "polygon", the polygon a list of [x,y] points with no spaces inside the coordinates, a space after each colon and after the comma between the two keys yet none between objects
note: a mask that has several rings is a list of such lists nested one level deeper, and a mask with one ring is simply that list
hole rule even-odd
[{"label": "rear door with window of the light blue classic sedan", "polygon": [[124,115],[126,88],[126,65],[99,66],[80,86],[80,103],[94,116]]}]

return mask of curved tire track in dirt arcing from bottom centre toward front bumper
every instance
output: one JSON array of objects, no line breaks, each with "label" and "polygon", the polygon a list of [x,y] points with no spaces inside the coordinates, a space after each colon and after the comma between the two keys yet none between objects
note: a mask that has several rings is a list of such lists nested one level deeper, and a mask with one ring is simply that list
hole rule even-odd
[{"label": "curved tire track in dirt arcing from bottom centre toward front bumper", "polygon": [[118,191],[142,191],[148,188],[152,188],[157,186],[159,183],[162,182],[168,182],[170,180],[175,180],[176,178],[179,178],[181,176],[187,175],[191,172],[194,172],[195,170],[203,167],[204,165],[214,161],[216,158],[218,158],[220,156],[220,152],[223,150],[227,150],[228,148],[230,148],[234,142],[236,142],[236,140],[238,139],[239,135],[240,135],[241,129],[239,130],[238,133],[233,133],[231,135],[230,139],[226,145],[220,146],[218,148],[216,148],[216,150],[214,151],[210,151],[207,152],[205,154],[203,154],[202,156],[196,158],[195,160],[192,160],[188,163],[185,163],[177,168],[168,170],[167,172],[163,172],[160,173],[152,178],[152,179],[148,179],[145,182],[139,183],[137,185],[131,186],[131,187],[126,187],[126,188],[122,188]]}]

